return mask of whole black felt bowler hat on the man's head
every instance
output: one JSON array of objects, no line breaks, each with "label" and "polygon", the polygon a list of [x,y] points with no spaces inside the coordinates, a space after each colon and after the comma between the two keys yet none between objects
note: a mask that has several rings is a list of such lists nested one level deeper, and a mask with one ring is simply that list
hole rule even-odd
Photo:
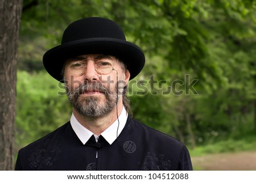
[{"label": "whole black felt bowler hat on the man's head", "polygon": [[121,27],[112,20],[90,17],[71,23],[64,31],[61,45],[48,50],[43,56],[47,72],[58,81],[68,58],[83,54],[108,54],[127,65],[130,79],[141,72],[145,57],[135,44],[126,41]]}]

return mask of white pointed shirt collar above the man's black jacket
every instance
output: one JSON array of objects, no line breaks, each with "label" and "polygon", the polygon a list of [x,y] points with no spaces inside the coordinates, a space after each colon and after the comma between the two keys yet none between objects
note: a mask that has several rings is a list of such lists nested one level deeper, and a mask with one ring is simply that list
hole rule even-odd
[{"label": "white pointed shirt collar above the man's black jacket", "polygon": [[[127,117],[128,117],[127,112],[123,107],[121,115],[118,117],[119,127],[118,127],[118,120],[115,120],[113,124],[109,126],[109,128],[107,128],[104,132],[101,133],[101,136],[104,137],[110,145],[115,141],[115,139],[122,132],[123,128],[125,127]],[[77,121],[73,113],[72,113],[70,122],[77,137],[79,137],[80,141],[83,144],[85,144],[89,140],[89,138],[92,137],[93,133],[90,132],[90,130],[88,130],[84,126],[82,126],[80,122]],[[118,132],[117,132],[117,129],[118,129]]]}]

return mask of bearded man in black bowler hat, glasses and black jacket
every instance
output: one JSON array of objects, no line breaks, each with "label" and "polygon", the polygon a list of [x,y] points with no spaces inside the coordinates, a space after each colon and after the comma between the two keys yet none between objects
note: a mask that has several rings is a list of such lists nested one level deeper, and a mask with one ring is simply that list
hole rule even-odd
[{"label": "bearded man in black bowler hat, glasses and black jacket", "polygon": [[73,113],[21,149],[15,170],[192,170],[182,143],[127,115],[127,83],[142,70],[144,54],[115,22],[73,22],[43,64],[65,83]]}]

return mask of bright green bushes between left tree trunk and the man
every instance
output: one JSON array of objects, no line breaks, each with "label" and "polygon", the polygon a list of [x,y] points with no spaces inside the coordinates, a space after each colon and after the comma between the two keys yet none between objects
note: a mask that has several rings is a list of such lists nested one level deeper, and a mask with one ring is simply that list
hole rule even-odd
[{"label": "bright green bushes between left tree trunk and the man", "polygon": [[46,73],[18,71],[16,96],[16,143],[27,145],[69,121],[72,113],[67,96]]}]

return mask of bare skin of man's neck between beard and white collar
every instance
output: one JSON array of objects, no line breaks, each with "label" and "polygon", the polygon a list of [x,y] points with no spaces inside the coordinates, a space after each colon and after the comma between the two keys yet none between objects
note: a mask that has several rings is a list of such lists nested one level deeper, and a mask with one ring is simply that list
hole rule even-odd
[{"label": "bare skin of man's neck between beard and white collar", "polygon": [[84,126],[86,129],[90,130],[92,133],[99,136],[102,132],[109,128],[109,126],[112,125],[115,120],[117,120],[117,116],[119,117],[121,115],[123,107],[122,99],[121,102],[119,100],[117,107],[115,107],[112,112],[110,112],[107,116],[104,117],[85,117],[80,115],[79,112],[77,112],[74,108],[73,114],[82,126]]}]

